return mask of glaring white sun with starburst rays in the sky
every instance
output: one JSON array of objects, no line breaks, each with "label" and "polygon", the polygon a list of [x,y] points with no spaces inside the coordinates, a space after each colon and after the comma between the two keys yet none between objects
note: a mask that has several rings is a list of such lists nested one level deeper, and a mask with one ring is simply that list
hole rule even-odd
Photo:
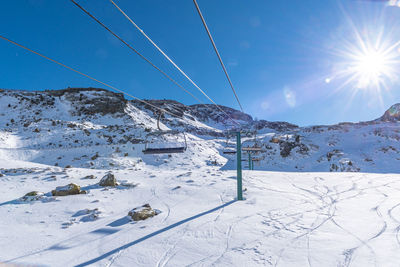
[{"label": "glaring white sun with starburst rays in the sky", "polygon": [[338,35],[332,50],[336,59],[331,73],[324,77],[334,86],[333,93],[350,92],[350,101],[363,92],[382,103],[384,91],[400,82],[400,40],[394,28],[358,21],[344,12],[346,31]]}]

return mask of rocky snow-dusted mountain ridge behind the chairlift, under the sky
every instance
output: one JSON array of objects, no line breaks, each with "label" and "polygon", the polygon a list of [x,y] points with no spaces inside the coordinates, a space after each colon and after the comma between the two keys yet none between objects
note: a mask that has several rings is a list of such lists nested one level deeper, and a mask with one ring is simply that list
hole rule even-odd
[{"label": "rocky snow-dusted mountain ridge behind the chairlift, under the sky", "polygon": [[161,114],[160,128],[165,134],[157,128],[156,108],[104,89],[2,90],[0,155],[64,167],[119,168],[155,164],[154,160],[168,165],[168,158],[143,155],[144,145],[182,145],[185,132],[189,153],[174,155],[181,163],[212,162],[223,169],[234,169],[236,156],[223,153],[234,147],[235,140],[228,133],[238,128],[229,114],[247,131],[243,145],[262,148],[252,155],[255,169],[400,171],[400,104],[370,122],[298,127],[287,122],[256,121],[224,106],[220,108],[226,114],[213,105],[148,102],[177,115]]}]

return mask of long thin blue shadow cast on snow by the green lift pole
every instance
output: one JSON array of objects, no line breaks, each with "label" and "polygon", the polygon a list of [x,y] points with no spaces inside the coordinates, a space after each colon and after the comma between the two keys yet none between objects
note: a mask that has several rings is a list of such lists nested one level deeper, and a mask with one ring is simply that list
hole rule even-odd
[{"label": "long thin blue shadow cast on snow by the green lift pole", "polygon": [[76,265],[75,267],[83,267],[83,266],[88,266],[88,265],[94,264],[94,263],[96,263],[96,262],[98,262],[98,261],[101,261],[101,260],[103,260],[103,259],[105,259],[105,258],[107,258],[107,257],[109,257],[109,256],[111,256],[111,255],[113,255],[113,254],[115,254],[115,253],[117,253],[117,252],[123,250],[123,249],[127,249],[127,248],[129,248],[129,247],[131,247],[131,246],[134,246],[134,245],[136,245],[136,244],[138,244],[138,243],[141,243],[141,242],[143,242],[143,241],[145,241],[145,240],[147,240],[147,239],[149,239],[149,238],[151,238],[151,237],[153,237],[153,236],[159,235],[159,234],[161,234],[161,233],[163,233],[163,232],[166,232],[166,231],[168,231],[168,230],[170,230],[170,229],[173,229],[173,228],[175,228],[175,227],[178,227],[178,226],[180,226],[180,225],[182,225],[182,224],[184,224],[184,223],[190,222],[190,221],[192,221],[192,220],[194,220],[194,219],[200,218],[200,217],[202,217],[202,216],[204,216],[204,215],[207,215],[207,214],[209,214],[209,213],[212,213],[212,212],[214,212],[214,211],[217,211],[217,210],[219,210],[219,209],[222,209],[222,208],[224,208],[224,207],[226,207],[226,206],[229,206],[229,205],[235,203],[236,201],[237,201],[236,199],[235,199],[235,200],[231,200],[231,201],[229,201],[229,202],[227,202],[227,203],[225,203],[225,204],[222,204],[222,205],[220,205],[220,206],[218,206],[218,207],[215,207],[215,208],[213,208],[213,209],[204,211],[204,212],[202,212],[202,213],[199,213],[199,214],[194,215],[194,216],[192,216],[192,217],[186,218],[186,219],[184,219],[184,220],[182,220],[182,221],[179,221],[179,222],[176,222],[176,223],[174,223],[174,224],[171,224],[171,225],[169,225],[169,226],[167,226],[167,227],[164,227],[164,228],[162,228],[162,229],[160,229],[160,230],[158,230],[158,231],[155,231],[155,232],[153,232],[153,233],[150,233],[150,234],[148,234],[148,235],[145,235],[144,237],[141,237],[141,238],[139,238],[139,239],[136,239],[135,241],[129,242],[129,243],[127,243],[127,244],[125,244],[125,245],[122,245],[122,246],[120,246],[120,247],[118,247],[118,248],[115,248],[115,249],[113,249],[113,250],[110,250],[109,252],[106,252],[106,253],[104,253],[103,255],[100,255],[100,256],[98,256],[98,257],[96,257],[96,258],[94,258],[94,259],[91,259],[91,260],[88,260],[88,261],[83,262],[83,263],[81,263],[81,264],[78,264],[78,265]]}]

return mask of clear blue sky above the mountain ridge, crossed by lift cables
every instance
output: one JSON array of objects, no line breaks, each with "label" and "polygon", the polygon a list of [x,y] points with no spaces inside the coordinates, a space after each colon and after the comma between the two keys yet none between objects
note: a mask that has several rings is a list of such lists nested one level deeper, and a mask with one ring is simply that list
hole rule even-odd
[{"label": "clear blue sky above the mountain ridge, crossed by lift cables", "polygon": [[[109,1],[77,2],[209,103]],[[192,1],[116,3],[211,98],[239,109]],[[356,122],[375,119],[400,102],[397,73],[384,75],[385,86],[378,91],[374,85],[358,88],[357,79],[346,83],[351,73],[341,72],[351,64],[356,32],[372,43],[379,36],[389,45],[400,40],[398,7],[357,0],[198,4],[244,110],[253,117],[299,125]],[[137,97],[196,103],[68,0],[6,1],[0,10],[0,33]],[[397,47],[393,51],[400,53]],[[0,59],[0,88],[102,87],[3,40]]]}]

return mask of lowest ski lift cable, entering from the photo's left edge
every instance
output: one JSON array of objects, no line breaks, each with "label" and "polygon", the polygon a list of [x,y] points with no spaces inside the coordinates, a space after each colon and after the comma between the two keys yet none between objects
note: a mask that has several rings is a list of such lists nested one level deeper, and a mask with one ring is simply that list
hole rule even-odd
[{"label": "lowest ski lift cable, entering from the photo's left edge", "polygon": [[174,114],[174,113],[172,113],[172,112],[169,112],[169,111],[167,111],[167,110],[165,110],[165,109],[163,109],[163,108],[157,107],[157,106],[155,106],[155,105],[153,105],[153,104],[151,104],[151,103],[149,103],[149,102],[147,102],[147,101],[145,101],[145,100],[142,100],[142,99],[140,99],[140,98],[138,98],[138,97],[136,97],[136,96],[133,96],[133,95],[127,93],[127,92],[124,92],[124,91],[122,91],[122,90],[120,90],[120,89],[118,89],[118,88],[116,88],[116,87],[114,87],[114,86],[112,86],[112,85],[109,85],[109,84],[107,84],[107,83],[105,83],[105,82],[102,82],[102,81],[96,79],[96,78],[93,78],[92,76],[89,76],[89,75],[87,75],[87,74],[85,74],[85,73],[83,73],[83,72],[80,72],[80,71],[78,71],[78,70],[76,70],[76,69],[74,69],[74,68],[72,68],[72,67],[69,67],[69,66],[67,66],[67,65],[65,65],[65,64],[63,64],[63,63],[61,63],[61,62],[59,62],[59,61],[57,61],[57,60],[54,60],[54,59],[52,59],[52,58],[49,58],[49,57],[47,57],[47,56],[45,56],[45,55],[43,55],[43,54],[41,54],[41,53],[39,53],[39,52],[36,52],[36,51],[34,51],[34,50],[32,50],[32,49],[26,47],[26,46],[23,46],[23,45],[21,45],[21,44],[19,44],[19,43],[17,43],[17,42],[14,42],[14,41],[12,41],[12,40],[10,40],[10,39],[8,39],[8,38],[2,36],[2,35],[0,35],[0,38],[3,39],[3,40],[5,40],[5,41],[7,41],[7,42],[9,42],[9,43],[12,43],[12,44],[14,44],[14,45],[16,45],[16,46],[19,46],[19,47],[21,47],[21,48],[23,48],[23,49],[25,49],[25,50],[27,50],[27,51],[33,53],[33,54],[36,54],[36,55],[38,55],[38,56],[40,56],[40,57],[42,57],[42,58],[45,58],[45,59],[47,59],[47,60],[49,60],[49,61],[51,61],[51,62],[53,62],[53,63],[56,63],[56,64],[58,64],[58,65],[60,65],[60,66],[62,66],[62,67],[64,67],[64,68],[67,68],[67,69],[69,69],[69,70],[71,70],[71,71],[73,71],[73,72],[75,72],[75,73],[78,73],[78,74],[80,74],[80,75],[82,75],[82,76],[85,76],[85,77],[87,77],[87,78],[89,78],[89,79],[91,79],[91,80],[93,80],[93,81],[95,81],[95,82],[101,83],[102,85],[105,85],[105,86],[107,86],[107,87],[109,87],[109,88],[111,88],[111,89],[113,89],[113,90],[115,90],[115,91],[117,91],[117,92],[120,92],[120,93],[122,93],[122,94],[124,94],[124,95],[127,95],[127,96],[129,96],[129,97],[132,97],[133,99],[136,99],[136,100],[138,100],[138,101],[140,101],[140,102],[142,102],[142,103],[144,103],[144,104],[146,104],[146,105],[149,105],[149,106],[151,106],[151,107],[153,107],[153,108],[156,108],[156,109],[158,109],[158,110],[160,110],[160,111],[162,111],[162,112],[165,112],[165,113],[167,113],[167,114],[169,114],[169,115],[172,115],[172,116],[174,116],[174,117],[181,118],[181,116],[179,116],[179,115],[176,115],[176,114]]}]

